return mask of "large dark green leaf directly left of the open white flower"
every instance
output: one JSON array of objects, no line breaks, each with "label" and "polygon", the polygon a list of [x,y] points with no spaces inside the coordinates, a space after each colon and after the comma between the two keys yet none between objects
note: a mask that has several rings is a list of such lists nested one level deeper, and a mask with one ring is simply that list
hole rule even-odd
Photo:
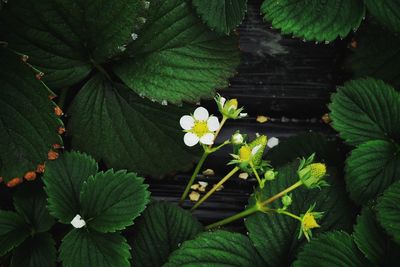
[{"label": "large dark green leaf directly left of the open white flower", "polygon": [[179,126],[184,111],[141,99],[98,75],[71,107],[72,145],[116,169],[154,176],[182,169],[194,161]]}]

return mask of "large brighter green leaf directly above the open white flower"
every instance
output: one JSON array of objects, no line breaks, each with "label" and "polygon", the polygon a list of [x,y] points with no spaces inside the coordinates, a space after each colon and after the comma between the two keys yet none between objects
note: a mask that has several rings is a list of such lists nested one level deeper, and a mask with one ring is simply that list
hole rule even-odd
[{"label": "large brighter green leaf directly above the open white flower", "polygon": [[237,37],[211,32],[185,0],[153,0],[149,19],[115,73],[161,103],[196,102],[228,86],[239,64]]}]

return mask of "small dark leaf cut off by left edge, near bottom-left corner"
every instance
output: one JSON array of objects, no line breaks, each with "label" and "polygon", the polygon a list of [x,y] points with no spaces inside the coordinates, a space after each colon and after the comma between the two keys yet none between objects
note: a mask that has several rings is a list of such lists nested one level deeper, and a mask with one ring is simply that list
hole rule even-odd
[{"label": "small dark leaf cut off by left edge, near bottom-left corner", "polygon": [[18,213],[0,210],[0,257],[21,244],[29,234],[28,225]]}]

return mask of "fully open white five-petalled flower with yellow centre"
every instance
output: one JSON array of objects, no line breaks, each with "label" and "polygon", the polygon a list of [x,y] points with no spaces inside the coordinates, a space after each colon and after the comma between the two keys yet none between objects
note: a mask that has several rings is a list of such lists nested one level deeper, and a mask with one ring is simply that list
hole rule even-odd
[{"label": "fully open white five-petalled flower with yellow centre", "polygon": [[220,127],[218,118],[209,116],[207,109],[198,107],[193,116],[184,115],[179,121],[186,134],[183,141],[187,146],[194,146],[198,142],[204,145],[214,143],[214,132]]}]

